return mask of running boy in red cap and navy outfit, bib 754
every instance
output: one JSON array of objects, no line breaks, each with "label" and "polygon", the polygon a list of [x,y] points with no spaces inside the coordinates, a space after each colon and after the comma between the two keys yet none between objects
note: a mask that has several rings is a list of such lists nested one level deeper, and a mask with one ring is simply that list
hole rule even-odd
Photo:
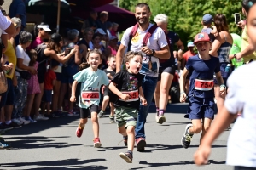
[{"label": "running boy in red cap and navy outfit, bib 754", "polygon": [[189,148],[190,141],[195,133],[201,133],[201,139],[211,126],[214,118],[214,91],[213,74],[215,73],[220,94],[225,94],[224,81],[220,74],[219,59],[209,54],[212,42],[205,32],[195,36],[194,44],[198,50],[197,55],[190,57],[183,70],[180,79],[180,102],[185,102],[184,81],[189,71],[191,71],[189,85],[189,119],[192,124],[188,124],[182,137],[183,148]]}]

